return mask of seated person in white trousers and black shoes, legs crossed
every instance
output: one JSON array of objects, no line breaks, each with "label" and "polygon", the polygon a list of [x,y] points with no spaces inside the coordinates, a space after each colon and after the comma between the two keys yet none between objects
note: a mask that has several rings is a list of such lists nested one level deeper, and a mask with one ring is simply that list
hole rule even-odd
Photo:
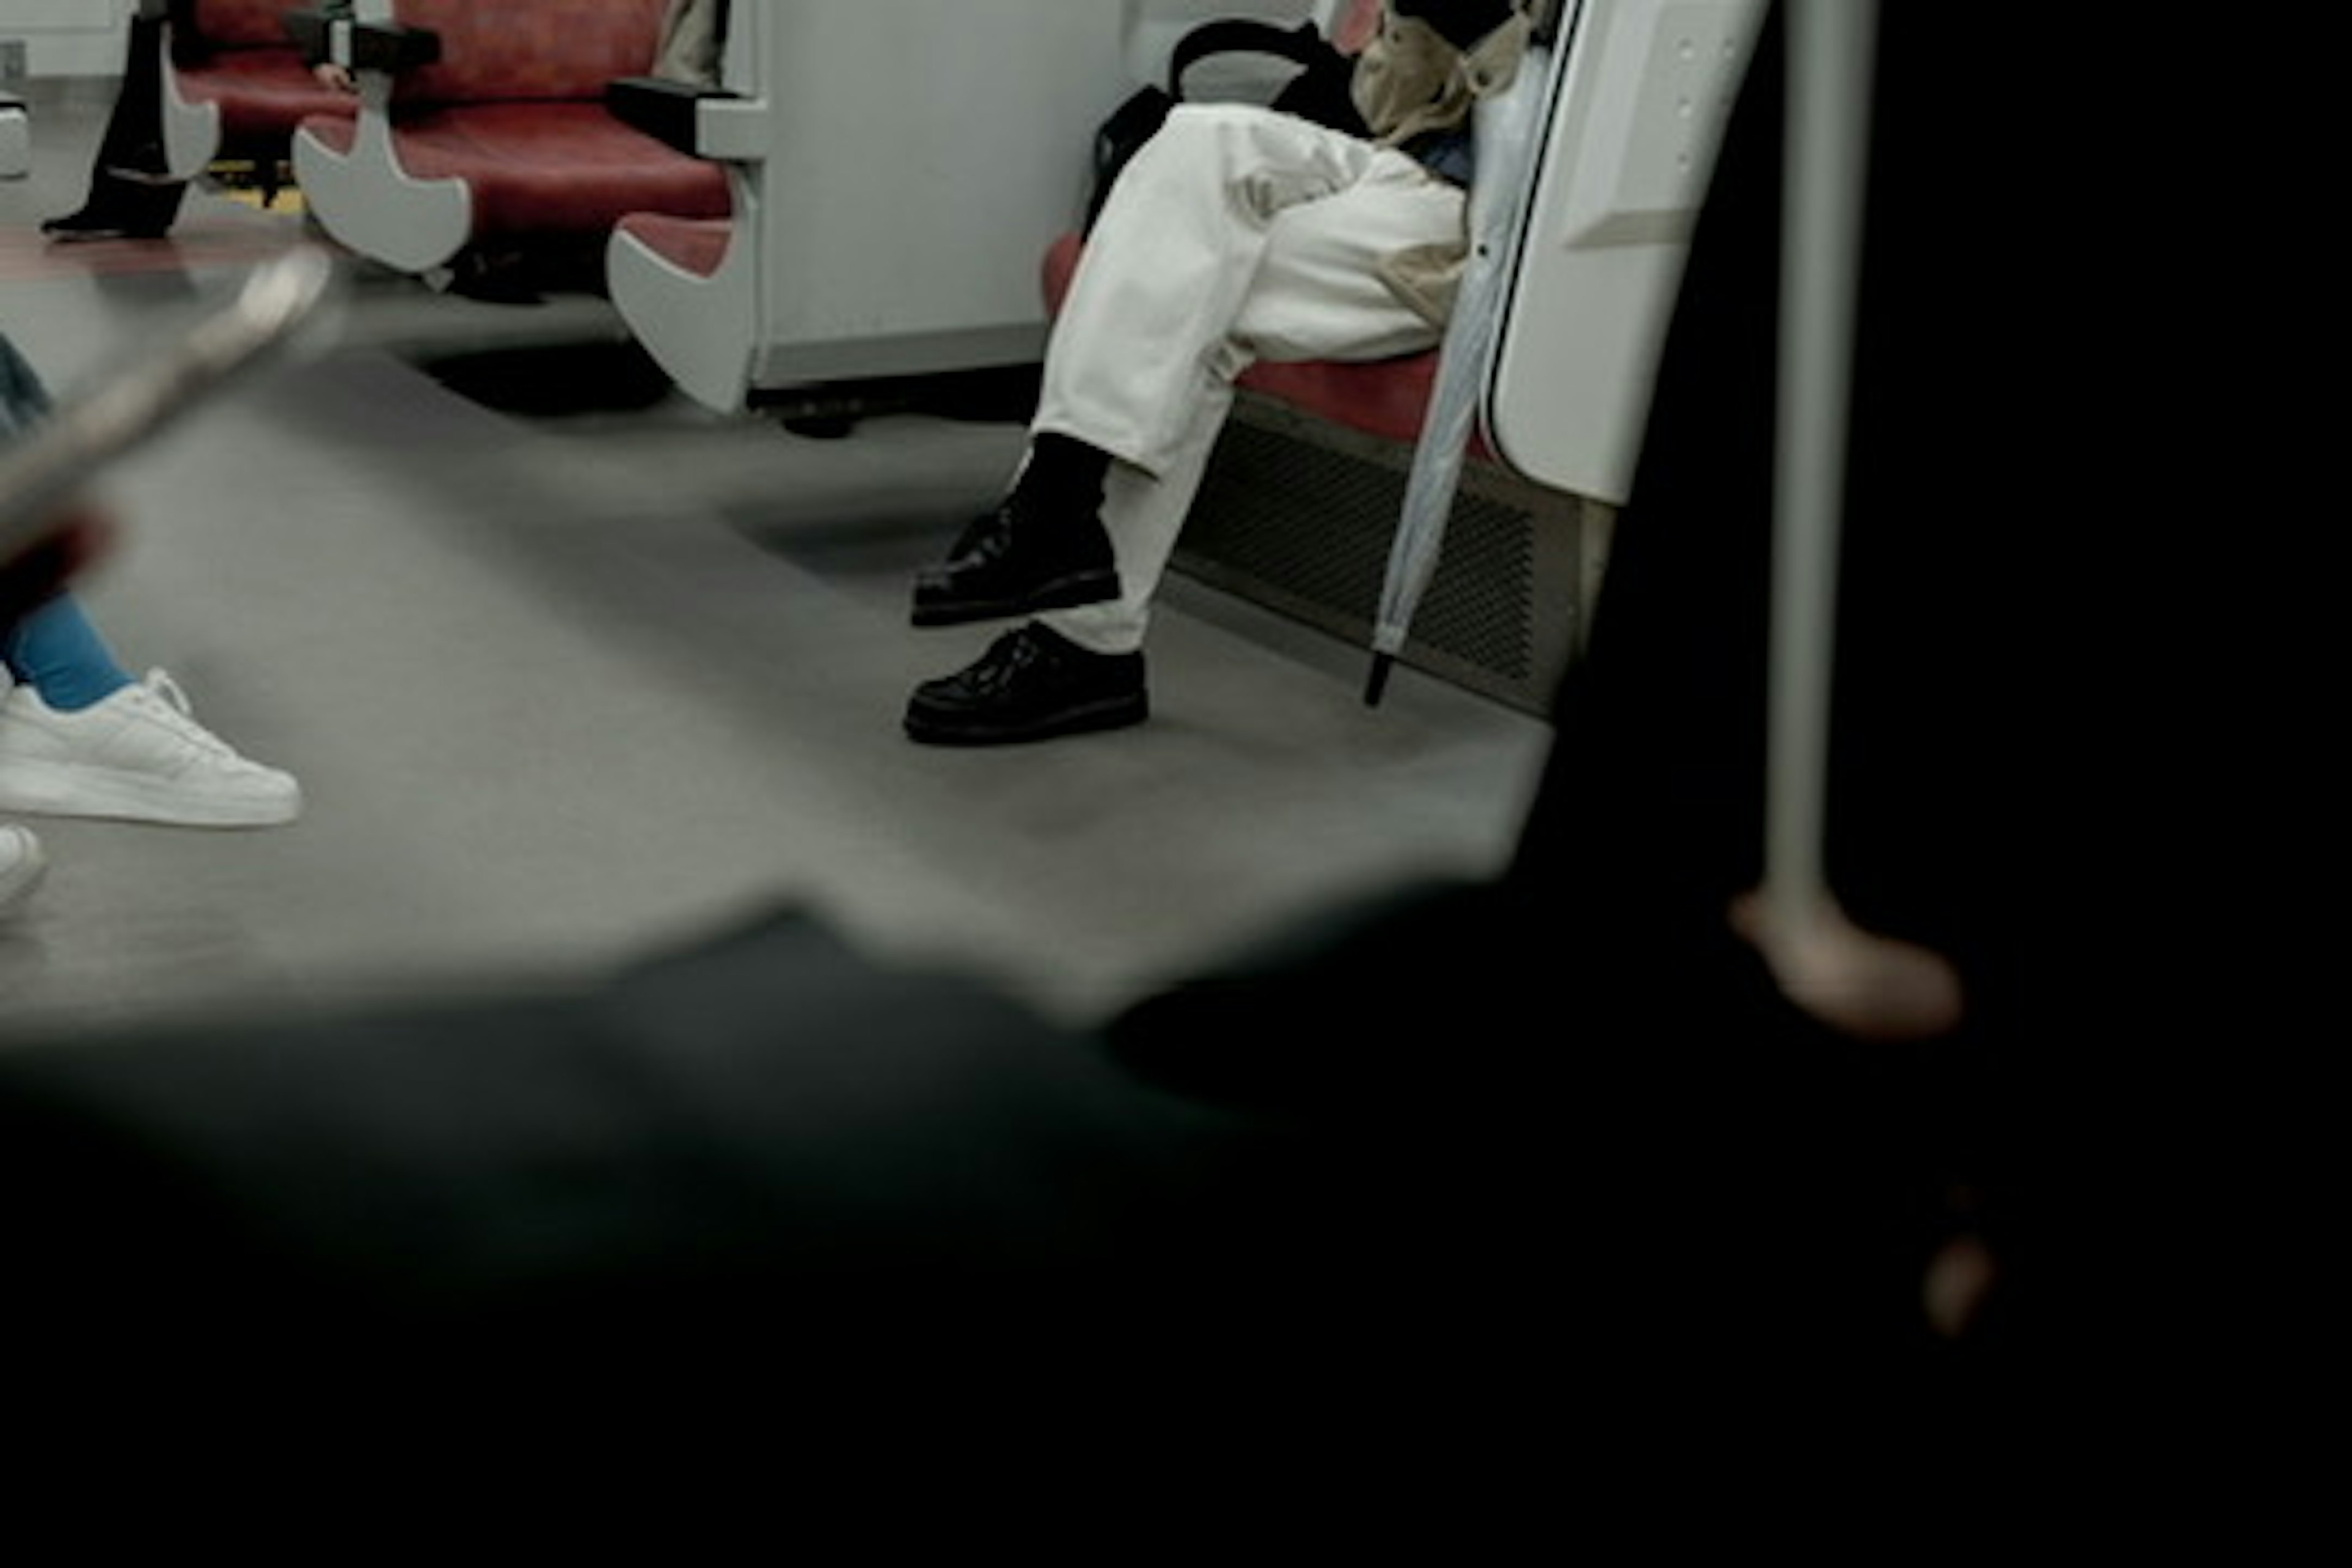
[{"label": "seated person in white trousers and black shoes, legs crossed", "polygon": [[1120,174],[1047,346],[1011,494],[915,581],[915,625],[1030,616],[924,682],[906,731],[990,745],[1148,717],[1150,602],[1254,360],[1378,360],[1444,329],[1468,110],[1526,42],[1512,0],[1390,0],[1352,134],[1181,103]]}]

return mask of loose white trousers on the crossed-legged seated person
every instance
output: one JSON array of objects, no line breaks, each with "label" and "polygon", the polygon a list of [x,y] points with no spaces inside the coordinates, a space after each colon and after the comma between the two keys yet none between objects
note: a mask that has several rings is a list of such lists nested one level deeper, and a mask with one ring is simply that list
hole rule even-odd
[{"label": "loose white trousers on the crossed-legged seated person", "polygon": [[1374,270],[1458,242],[1463,190],[1395,148],[1242,103],[1185,103],[1096,219],[1047,343],[1033,435],[1117,458],[1120,599],[1049,611],[1096,654],[1143,646],[1152,592],[1254,360],[1383,360],[1437,329]]}]

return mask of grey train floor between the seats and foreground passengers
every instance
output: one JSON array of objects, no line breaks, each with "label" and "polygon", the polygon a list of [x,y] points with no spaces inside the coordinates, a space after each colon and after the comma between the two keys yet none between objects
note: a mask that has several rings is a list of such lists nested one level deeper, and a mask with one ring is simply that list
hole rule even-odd
[{"label": "grey train floor between the seats and foreground passengers", "polygon": [[[306,237],[198,193],[169,242],[42,244],[101,103],[35,92],[35,169],[0,183],[0,329],[59,388]],[[1508,851],[1543,724],[1414,672],[1364,710],[1357,649],[1188,581],[1150,724],[908,743],[908,686],[990,630],[910,630],[906,578],[993,498],[1018,428],[804,440],[675,395],[517,416],[421,369],[520,348],[562,374],[621,336],[590,296],[482,306],[355,268],[332,355],[108,477],[94,618],[299,773],[308,811],[28,823],[52,875],[0,924],[0,1030],[567,985],[779,903],[1084,1020]]]}]

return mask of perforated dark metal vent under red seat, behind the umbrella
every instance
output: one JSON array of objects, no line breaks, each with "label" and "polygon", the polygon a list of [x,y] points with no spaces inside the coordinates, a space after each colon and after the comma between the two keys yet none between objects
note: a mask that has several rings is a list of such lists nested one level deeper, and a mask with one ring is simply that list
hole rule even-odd
[{"label": "perforated dark metal vent under red seat, behind the umbrella", "polygon": [[[1218,440],[1176,567],[1352,642],[1371,635],[1411,451],[1244,397]],[[1588,529],[1573,496],[1472,465],[1404,661],[1541,712],[1583,623]]]}]

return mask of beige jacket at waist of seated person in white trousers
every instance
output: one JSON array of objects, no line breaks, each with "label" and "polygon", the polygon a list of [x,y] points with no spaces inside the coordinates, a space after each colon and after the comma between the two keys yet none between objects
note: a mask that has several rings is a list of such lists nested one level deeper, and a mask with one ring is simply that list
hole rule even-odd
[{"label": "beige jacket at waist of seated person in white trousers", "polygon": [[[1383,7],[1381,31],[1355,61],[1355,110],[1388,146],[1456,129],[1479,99],[1503,92],[1519,75],[1529,31],[1522,0],[1519,14],[1475,49],[1456,49],[1418,16],[1397,16]],[[1378,268],[1381,282],[1432,327],[1444,327],[1454,315],[1454,296],[1470,266],[1468,214],[1465,202],[1461,240],[1397,252]]]}]

